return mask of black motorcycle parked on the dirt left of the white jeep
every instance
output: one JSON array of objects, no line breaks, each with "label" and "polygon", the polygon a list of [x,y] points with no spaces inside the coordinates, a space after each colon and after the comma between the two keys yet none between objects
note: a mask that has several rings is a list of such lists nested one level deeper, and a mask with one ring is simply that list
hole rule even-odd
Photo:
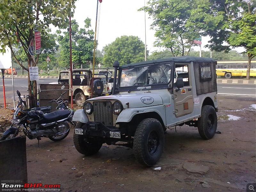
[{"label": "black motorcycle parked on the dirt left of the white jeep", "polygon": [[[65,93],[62,93],[60,98]],[[24,109],[22,105],[23,101],[18,90],[17,94],[21,105],[18,104],[18,107],[13,110],[12,124],[3,133],[0,141],[16,137],[21,126],[28,139],[37,139],[39,141],[41,137],[48,137],[50,140],[60,141],[68,136],[70,125],[75,124],[72,121],[74,111],[68,108],[67,101],[63,101],[63,98],[61,101],[58,101],[60,98],[52,100],[58,103],[57,108],[59,110],[47,113],[47,109],[47,112],[44,113],[44,109],[48,107],[32,108],[37,110]]]}]

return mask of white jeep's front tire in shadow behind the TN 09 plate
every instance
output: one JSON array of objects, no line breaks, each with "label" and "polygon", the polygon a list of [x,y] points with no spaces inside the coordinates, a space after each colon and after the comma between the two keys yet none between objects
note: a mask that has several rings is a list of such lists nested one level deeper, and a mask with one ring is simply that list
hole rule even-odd
[{"label": "white jeep's front tire in shadow behind the TN 09 plate", "polygon": [[[83,123],[77,122],[75,129],[76,128],[81,129],[83,125],[84,125]],[[84,135],[78,135],[74,130],[74,134],[73,134],[74,145],[76,147],[76,150],[79,153],[89,156],[97,153],[100,150],[102,146],[102,142],[97,142],[95,140],[87,141],[85,139],[86,138]]]}]

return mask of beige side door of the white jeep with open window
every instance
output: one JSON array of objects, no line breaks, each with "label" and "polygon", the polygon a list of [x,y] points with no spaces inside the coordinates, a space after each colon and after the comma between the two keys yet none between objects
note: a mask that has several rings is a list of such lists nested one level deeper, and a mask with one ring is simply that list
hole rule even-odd
[{"label": "beige side door of the white jeep with open window", "polygon": [[[193,112],[194,99],[192,89],[192,70],[191,63],[175,63],[173,100],[176,117],[184,116]],[[178,77],[183,79],[183,87],[177,88],[176,80]]]}]

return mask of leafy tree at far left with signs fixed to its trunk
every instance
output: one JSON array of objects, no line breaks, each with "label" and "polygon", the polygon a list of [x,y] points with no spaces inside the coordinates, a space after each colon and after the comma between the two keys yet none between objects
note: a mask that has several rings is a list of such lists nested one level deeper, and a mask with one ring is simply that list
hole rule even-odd
[{"label": "leafy tree at far left with signs fixed to its trunk", "polygon": [[[16,62],[25,70],[28,67],[36,66],[38,55],[35,62],[28,53],[30,41],[34,38],[34,27],[41,32],[41,38],[48,37],[49,25],[66,28],[69,15],[73,16],[76,0],[2,0],[0,2],[0,52],[5,52],[5,47],[11,49],[12,56]],[[39,17],[40,15],[40,17]],[[17,60],[13,52],[13,45],[20,41],[24,52],[28,57],[28,67],[22,65]],[[33,90],[33,93],[32,93]],[[37,86],[36,81],[31,83],[28,75],[29,106],[37,106]]]}]

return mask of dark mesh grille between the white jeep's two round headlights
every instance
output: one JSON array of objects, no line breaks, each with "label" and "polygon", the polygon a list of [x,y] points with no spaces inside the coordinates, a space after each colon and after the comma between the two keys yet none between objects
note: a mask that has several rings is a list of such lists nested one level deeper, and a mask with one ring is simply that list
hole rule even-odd
[{"label": "dark mesh grille between the white jeep's two round headlights", "polygon": [[112,107],[110,101],[94,101],[93,115],[95,122],[106,126],[113,126]]}]

